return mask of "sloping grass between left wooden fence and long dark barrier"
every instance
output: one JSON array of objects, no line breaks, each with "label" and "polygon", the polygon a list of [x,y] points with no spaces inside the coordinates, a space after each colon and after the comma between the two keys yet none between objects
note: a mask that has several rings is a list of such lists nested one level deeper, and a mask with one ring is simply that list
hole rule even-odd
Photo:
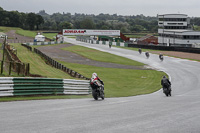
[{"label": "sloping grass between left wooden fence and long dark barrier", "polygon": [[22,62],[30,63],[31,74],[39,74],[48,78],[73,78],[65,72],[51,67],[50,65],[47,65],[39,55],[34,52],[28,51],[25,47],[21,46],[21,44],[15,43],[11,45],[17,49],[17,56]]}]

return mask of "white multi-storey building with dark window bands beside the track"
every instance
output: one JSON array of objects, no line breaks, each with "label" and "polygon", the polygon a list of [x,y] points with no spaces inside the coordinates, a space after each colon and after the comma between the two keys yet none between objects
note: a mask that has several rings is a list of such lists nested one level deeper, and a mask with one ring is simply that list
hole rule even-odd
[{"label": "white multi-storey building with dark window bands beside the track", "polygon": [[192,47],[200,43],[200,32],[193,31],[185,14],[158,15],[158,27],[159,45]]}]

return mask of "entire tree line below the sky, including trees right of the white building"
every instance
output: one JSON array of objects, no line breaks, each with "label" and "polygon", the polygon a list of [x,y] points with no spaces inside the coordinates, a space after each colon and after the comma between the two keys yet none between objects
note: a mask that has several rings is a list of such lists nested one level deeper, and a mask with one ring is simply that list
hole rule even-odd
[{"label": "entire tree line below the sky, including trees right of the white building", "polygon": [[[191,18],[191,24],[200,26],[200,18]],[[81,14],[53,13],[45,10],[39,13],[20,13],[5,11],[0,7],[0,25],[20,27],[28,30],[62,30],[62,29],[104,29],[121,30],[123,33],[151,32],[157,33],[157,17],[144,15],[122,16],[117,14]]]}]

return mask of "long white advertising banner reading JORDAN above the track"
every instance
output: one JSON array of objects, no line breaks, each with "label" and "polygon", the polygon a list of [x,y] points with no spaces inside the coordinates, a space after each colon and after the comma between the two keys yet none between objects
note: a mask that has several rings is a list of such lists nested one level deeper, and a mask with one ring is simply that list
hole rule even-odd
[{"label": "long white advertising banner reading JORDAN above the track", "polygon": [[63,35],[120,36],[120,30],[63,29]]}]

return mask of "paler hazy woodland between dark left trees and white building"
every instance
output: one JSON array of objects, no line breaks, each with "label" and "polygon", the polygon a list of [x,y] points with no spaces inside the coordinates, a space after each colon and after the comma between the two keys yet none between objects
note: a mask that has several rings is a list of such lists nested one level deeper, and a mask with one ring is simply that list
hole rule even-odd
[{"label": "paler hazy woodland between dark left trees and white building", "polygon": [[61,29],[103,29],[121,30],[121,32],[157,32],[157,17],[144,15],[122,16],[117,14],[81,14],[53,13],[49,15],[45,10],[38,13],[44,18],[44,30]]}]

